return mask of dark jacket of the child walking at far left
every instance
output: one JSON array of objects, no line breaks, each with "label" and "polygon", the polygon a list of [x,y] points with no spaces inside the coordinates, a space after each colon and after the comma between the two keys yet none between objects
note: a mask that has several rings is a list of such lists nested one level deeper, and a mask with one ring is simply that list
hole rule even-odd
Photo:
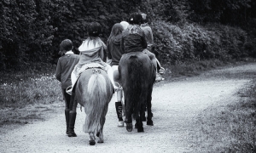
[{"label": "dark jacket of the child walking at far left", "polygon": [[67,88],[72,85],[71,73],[75,65],[79,62],[78,54],[65,54],[60,57],[55,71],[55,77],[61,82],[61,88]]}]

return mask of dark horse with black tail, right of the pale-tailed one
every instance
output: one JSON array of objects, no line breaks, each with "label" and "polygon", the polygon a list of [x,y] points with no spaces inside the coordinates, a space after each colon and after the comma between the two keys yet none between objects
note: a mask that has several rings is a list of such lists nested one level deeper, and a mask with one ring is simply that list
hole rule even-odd
[{"label": "dark horse with black tail, right of the pale-tailed one", "polygon": [[[116,78],[116,77],[115,77]],[[143,132],[143,116],[148,111],[147,125],[153,125],[151,94],[155,70],[147,54],[131,52],[119,61],[119,82],[125,94],[125,122],[128,132],[132,131],[132,117],[136,119],[137,132]]]}]

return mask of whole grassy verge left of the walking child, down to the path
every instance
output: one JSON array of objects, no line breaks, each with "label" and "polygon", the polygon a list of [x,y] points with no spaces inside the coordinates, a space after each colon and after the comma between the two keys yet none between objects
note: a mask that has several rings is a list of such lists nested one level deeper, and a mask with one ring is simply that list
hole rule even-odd
[{"label": "whole grassy verge left of the walking child, down to the path", "polygon": [[0,127],[44,120],[44,113],[55,111],[63,103],[54,65],[0,74]]}]

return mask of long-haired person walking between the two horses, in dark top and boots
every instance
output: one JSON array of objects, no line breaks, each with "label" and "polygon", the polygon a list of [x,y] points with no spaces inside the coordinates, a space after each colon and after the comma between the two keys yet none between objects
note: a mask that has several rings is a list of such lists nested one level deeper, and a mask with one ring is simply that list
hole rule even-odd
[{"label": "long-haired person walking between the two horses, in dark top and boots", "polygon": [[[112,65],[113,71],[118,71],[119,60],[124,54],[124,51],[120,48],[123,30],[124,30],[124,27],[121,24],[116,23],[113,25],[110,36],[108,37],[107,55],[108,55],[108,59],[111,59],[111,65]],[[117,93],[117,102],[115,102],[115,109],[119,119],[118,127],[124,127],[124,121],[122,117],[123,109],[122,109],[122,102],[121,102],[123,91],[121,87],[116,91],[116,93]]]}]

